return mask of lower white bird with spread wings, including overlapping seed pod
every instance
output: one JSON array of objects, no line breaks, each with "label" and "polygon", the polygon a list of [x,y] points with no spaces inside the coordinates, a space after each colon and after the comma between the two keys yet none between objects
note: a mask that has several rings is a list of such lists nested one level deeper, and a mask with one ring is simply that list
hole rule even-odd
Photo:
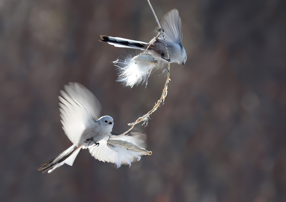
[{"label": "lower white bird with spread wings, including overlapping seed pod", "polygon": [[[101,105],[86,87],[79,83],[69,83],[61,90],[59,111],[65,134],[73,145],[57,157],[39,165],[36,169],[51,173],[64,163],[72,166],[81,149],[89,149],[90,154],[99,161],[131,165],[140,155],[152,152],[140,147],[145,140],[142,134],[116,137],[112,134],[113,119],[99,117]],[[139,145],[139,146],[138,146]]]}]

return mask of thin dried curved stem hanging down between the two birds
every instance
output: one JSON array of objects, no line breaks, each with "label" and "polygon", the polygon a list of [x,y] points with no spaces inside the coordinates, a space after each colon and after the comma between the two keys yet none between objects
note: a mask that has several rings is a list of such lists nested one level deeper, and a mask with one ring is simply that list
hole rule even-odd
[{"label": "thin dried curved stem hanging down between the two birds", "polygon": [[[158,23],[158,27],[159,27],[159,33],[158,33],[158,35],[153,39],[153,41],[155,41],[155,39],[158,38],[158,37],[160,36],[160,34],[162,34],[162,37],[163,37],[163,40],[164,40],[164,44],[165,44],[165,46],[166,46],[167,57],[168,57],[167,79],[166,79],[166,83],[165,83],[164,89],[163,89],[163,91],[162,91],[162,95],[161,95],[160,99],[157,101],[157,103],[155,104],[155,106],[153,107],[153,109],[150,110],[147,114],[143,115],[142,117],[139,117],[135,122],[133,122],[133,123],[128,123],[128,125],[131,126],[130,129],[128,129],[127,131],[125,131],[124,133],[122,133],[122,134],[120,134],[120,135],[116,135],[115,137],[126,135],[127,133],[129,133],[129,132],[134,128],[134,126],[135,126],[136,124],[138,124],[138,123],[140,123],[140,122],[142,122],[142,121],[146,121],[146,120],[151,116],[151,114],[152,114],[154,111],[156,111],[156,109],[158,109],[158,107],[160,107],[161,103],[164,102],[165,98],[167,97],[167,93],[168,93],[168,83],[171,81],[171,79],[170,79],[170,56],[169,56],[169,51],[168,51],[167,43],[166,43],[166,40],[165,40],[165,36],[164,36],[164,33],[163,33],[164,30],[161,28],[161,25],[160,25],[160,23],[159,23],[159,20],[158,20],[158,18],[157,18],[157,15],[156,15],[156,13],[155,13],[155,11],[154,11],[154,9],[153,9],[153,7],[152,7],[150,1],[149,1],[149,0],[147,0],[147,1],[148,1],[148,4],[149,4],[149,6],[150,6],[150,8],[151,8],[151,10],[152,10],[152,12],[153,12],[153,14],[154,14],[154,17],[155,17],[155,19],[156,19],[156,22]],[[149,44],[149,46],[146,48],[146,50],[145,50],[143,53],[141,53],[141,54],[145,54],[145,53],[146,53],[146,51],[148,50],[148,48],[150,47],[150,45],[153,43],[153,41]],[[110,137],[110,138],[112,138],[112,137]]]}]

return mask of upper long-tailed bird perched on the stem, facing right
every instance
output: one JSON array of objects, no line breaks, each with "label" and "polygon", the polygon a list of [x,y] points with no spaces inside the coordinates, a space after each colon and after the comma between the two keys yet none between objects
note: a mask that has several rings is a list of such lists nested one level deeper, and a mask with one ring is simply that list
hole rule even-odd
[{"label": "upper long-tailed bird perched on the stem, facing right", "polygon": [[[166,44],[170,56],[170,63],[178,63],[184,66],[187,60],[187,55],[184,47],[182,46],[181,19],[177,9],[173,9],[166,13],[166,15],[163,17],[161,27],[164,30]],[[100,41],[107,42],[115,47],[146,50],[153,39],[149,43],[145,43],[142,41],[101,35]],[[161,35],[150,45],[147,53],[167,62],[167,51]]]}]

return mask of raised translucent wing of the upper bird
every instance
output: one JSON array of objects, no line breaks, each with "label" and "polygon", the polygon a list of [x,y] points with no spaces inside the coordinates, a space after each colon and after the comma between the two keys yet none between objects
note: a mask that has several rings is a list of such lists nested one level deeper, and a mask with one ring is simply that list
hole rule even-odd
[{"label": "raised translucent wing of the upper bird", "polygon": [[161,27],[164,29],[167,41],[182,43],[181,19],[177,9],[173,9],[164,15]]}]

